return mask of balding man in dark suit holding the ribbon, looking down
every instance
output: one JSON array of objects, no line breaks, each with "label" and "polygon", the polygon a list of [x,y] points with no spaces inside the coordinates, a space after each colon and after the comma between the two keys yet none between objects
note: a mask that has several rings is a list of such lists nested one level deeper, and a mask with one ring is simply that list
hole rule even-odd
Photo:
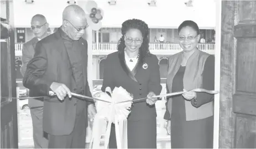
[{"label": "balding man in dark suit holding the ribbon, looking down", "polygon": [[87,114],[93,119],[93,102],[71,97],[71,92],[91,97],[87,81],[86,14],[70,5],[62,14],[62,26],[39,41],[28,63],[23,84],[44,98],[43,130],[49,134],[48,148],[85,148]]}]

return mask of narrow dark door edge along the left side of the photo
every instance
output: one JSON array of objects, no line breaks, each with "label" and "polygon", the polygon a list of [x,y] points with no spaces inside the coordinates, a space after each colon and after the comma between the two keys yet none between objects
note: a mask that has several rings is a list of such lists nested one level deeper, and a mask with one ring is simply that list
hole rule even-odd
[{"label": "narrow dark door edge along the left side of the photo", "polygon": [[1,12],[6,9],[6,15],[1,13],[1,17],[6,17],[6,22],[12,26],[1,40],[1,148],[18,148],[17,100],[13,99],[16,97],[13,2],[1,1],[1,9]]}]

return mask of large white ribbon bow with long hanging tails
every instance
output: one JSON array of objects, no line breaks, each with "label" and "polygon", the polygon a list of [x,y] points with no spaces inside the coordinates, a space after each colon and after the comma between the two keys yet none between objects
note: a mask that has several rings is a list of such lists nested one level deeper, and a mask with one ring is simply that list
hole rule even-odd
[{"label": "large white ribbon bow with long hanging tails", "polygon": [[102,128],[106,128],[105,145],[108,147],[111,124],[115,124],[117,148],[127,148],[127,116],[130,113],[132,102],[118,103],[124,100],[132,100],[131,95],[122,87],[114,88],[113,92],[107,87],[107,93],[100,93],[101,100],[106,102],[96,102],[97,114],[92,127],[92,137],[89,148],[100,148]]}]

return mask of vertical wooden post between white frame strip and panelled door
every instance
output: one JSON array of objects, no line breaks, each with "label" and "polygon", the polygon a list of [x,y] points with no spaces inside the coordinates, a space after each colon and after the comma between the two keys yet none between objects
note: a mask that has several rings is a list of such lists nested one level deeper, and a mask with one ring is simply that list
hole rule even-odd
[{"label": "vertical wooden post between white frame strip and panelled door", "polygon": [[[220,86],[220,145],[219,148],[234,147],[233,104],[233,52],[234,52],[234,1],[222,1],[221,14],[221,86]],[[216,31],[217,33],[217,31]],[[216,34],[216,38],[220,36]],[[216,50],[217,51],[217,50]],[[218,99],[217,99],[218,100]]]}]

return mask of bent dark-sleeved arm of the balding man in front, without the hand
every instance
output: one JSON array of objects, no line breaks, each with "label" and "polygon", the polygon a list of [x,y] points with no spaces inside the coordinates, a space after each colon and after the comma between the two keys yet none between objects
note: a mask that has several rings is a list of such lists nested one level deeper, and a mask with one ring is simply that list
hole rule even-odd
[{"label": "bent dark-sleeved arm of the balding man in front, without the hand", "polygon": [[35,47],[35,55],[28,62],[23,77],[23,85],[28,89],[38,92],[40,95],[49,95],[50,86],[53,81],[45,78],[44,73],[48,66],[47,55],[43,45],[38,42]]}]

